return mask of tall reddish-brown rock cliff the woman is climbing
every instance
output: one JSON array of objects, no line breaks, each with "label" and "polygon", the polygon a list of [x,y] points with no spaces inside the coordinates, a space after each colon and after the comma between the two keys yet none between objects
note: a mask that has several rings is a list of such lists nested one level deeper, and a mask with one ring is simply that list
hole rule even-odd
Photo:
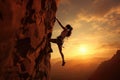
[{"label": "tall reddish-brown rock cliff the woman is climbing", "polygon": [[0,0],[0,80],[50,80],[56,0]]}]

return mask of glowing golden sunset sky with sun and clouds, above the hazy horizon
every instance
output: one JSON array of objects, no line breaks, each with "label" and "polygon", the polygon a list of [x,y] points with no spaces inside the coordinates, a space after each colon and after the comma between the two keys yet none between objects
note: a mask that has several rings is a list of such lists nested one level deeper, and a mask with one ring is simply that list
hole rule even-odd
[{"label": "glowing golden sunset sky with sun and clouds, above the hazy horizon", "polygon": [[[73,32],[64,41],[65,58],[112,57],[120,49],[120,0],[61,0],[57,18]],[[55,23],[52,38],[62,29]],[[61,58],[52,43],[52,59]]]}]

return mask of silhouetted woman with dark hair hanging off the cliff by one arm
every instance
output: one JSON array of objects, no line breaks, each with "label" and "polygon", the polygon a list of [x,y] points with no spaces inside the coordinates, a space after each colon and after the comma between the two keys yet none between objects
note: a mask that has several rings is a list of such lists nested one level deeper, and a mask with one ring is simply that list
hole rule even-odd
[{"label": "silhouetted woman with dark hair hanging off the cliff by one arm", "polygon": [[50,42],[56,43],[58,45],[59,52],[60,52],[61,57],[62,57],[62,66],[64,66],[65,65],[65,59],[64,59],[64,55],[62,53],[62,45],[63,45],[63,42],[64,42],[64,38],[65,37],[70,37],[73,28],[69,24],[64,27],[57,18],[56,18],[56,20],[59,23],[59,25],[62,27],[63,31],[61,32],[61,34],[56,39],[50,39]]}]

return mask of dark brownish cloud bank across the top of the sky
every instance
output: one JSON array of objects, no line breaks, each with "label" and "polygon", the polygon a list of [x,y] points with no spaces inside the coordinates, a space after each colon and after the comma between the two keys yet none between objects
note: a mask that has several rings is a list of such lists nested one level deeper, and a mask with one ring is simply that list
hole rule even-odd
[{"label": "dark brownish cloud bank across the top of the sky", "polygon": [[104,17],[120,7],[120,0],[61,0],[60,6],[58,13],[64,18],[71,19],[78,14],[87,18]]}]

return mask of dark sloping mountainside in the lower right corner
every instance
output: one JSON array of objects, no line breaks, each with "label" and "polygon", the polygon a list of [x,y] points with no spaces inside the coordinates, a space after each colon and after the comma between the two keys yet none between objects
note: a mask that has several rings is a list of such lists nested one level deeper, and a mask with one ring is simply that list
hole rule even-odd
[{"label": "dark sloping mountainside in the lower right corner", "polygon": [[89,80],[120,80],[120,50],[103,62]]}]

